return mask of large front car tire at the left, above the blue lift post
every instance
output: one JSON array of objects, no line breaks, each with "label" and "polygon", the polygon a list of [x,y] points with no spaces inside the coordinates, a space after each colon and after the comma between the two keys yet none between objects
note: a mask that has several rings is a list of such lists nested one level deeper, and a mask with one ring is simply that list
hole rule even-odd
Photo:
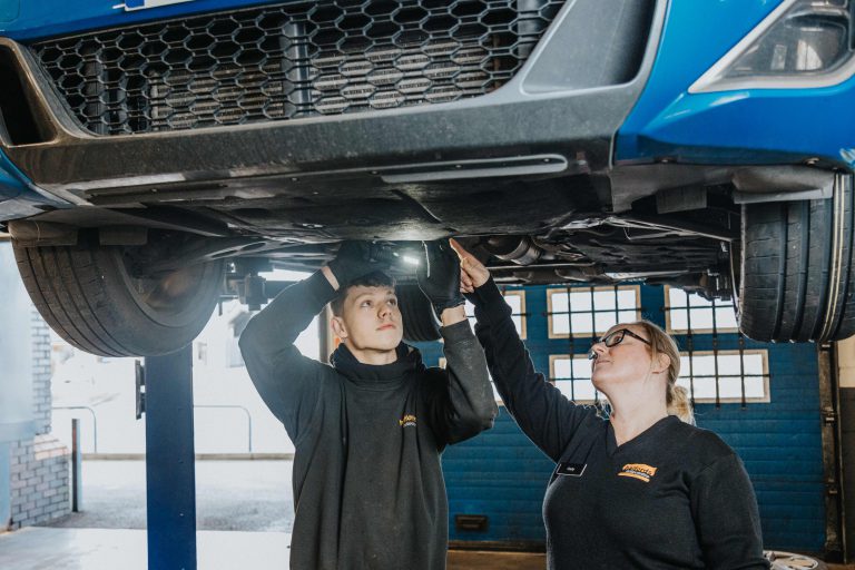
[{"label": "large front car tire at the left, above the blue lift post", "polygon": [[153,356],[187,345],[210,318],[222,286],[222,261],[141,279],[129,274],[121,246],[12,246],[45,321],[101,356]]}]

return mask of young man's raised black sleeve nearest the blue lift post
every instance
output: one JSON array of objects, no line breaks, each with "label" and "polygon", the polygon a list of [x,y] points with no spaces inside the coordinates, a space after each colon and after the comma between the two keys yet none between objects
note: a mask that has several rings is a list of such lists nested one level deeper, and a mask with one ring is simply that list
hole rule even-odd
[{"label": "young man's raised black sleeve nearest the blue lift post", "polygon": [[301,354],[294,341],[334,295],[317,272],[279,293],[240,335],[249,377],[295,445],[312,421],[327,366]]}]

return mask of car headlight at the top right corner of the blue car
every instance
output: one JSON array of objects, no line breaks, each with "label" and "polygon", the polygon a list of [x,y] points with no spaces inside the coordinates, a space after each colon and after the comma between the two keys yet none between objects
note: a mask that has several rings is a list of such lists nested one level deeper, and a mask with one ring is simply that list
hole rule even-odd
[{"label": "car headlight at the top right corner of the blue car", "polygon": [[689,88],[827,87],[855,73],[855,0],[785,0]]}]

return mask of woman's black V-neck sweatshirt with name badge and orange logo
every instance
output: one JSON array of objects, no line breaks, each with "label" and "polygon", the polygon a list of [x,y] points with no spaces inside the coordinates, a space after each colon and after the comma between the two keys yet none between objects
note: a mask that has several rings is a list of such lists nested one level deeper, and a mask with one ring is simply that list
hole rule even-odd
[{"label": "woman's black V-neck sweatshirt with name badge and orange logo", "polygon": [[556,462],[543,501],[551,570],[768,568],[751,483],[724,441],[668,416],[618,445],[610,422],[534,371],[492,279],[468,297],[504,405]]}]

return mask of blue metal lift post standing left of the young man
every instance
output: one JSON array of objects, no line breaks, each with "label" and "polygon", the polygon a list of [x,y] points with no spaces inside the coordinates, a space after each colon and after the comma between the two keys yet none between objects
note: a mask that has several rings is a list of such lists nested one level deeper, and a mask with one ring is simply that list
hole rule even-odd
[{"label": "blue metal lift post standing left of the young man", "polygon": [[149,570],[196,570],[193,350],[146,358]]}]

